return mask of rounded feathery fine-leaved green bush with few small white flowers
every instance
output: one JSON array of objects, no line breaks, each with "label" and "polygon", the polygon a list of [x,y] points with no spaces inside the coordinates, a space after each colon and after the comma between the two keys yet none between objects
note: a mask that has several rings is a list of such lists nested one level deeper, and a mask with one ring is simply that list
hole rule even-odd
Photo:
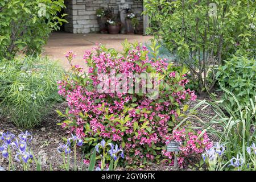
[{"label": "rounded feathery fine-leaved green bush with few small white flowers", "polygon": [[56,101],[57,80],[62,69],[40,57],[0,61],[0,113],[18,127],[28,129],[40,123]]}]

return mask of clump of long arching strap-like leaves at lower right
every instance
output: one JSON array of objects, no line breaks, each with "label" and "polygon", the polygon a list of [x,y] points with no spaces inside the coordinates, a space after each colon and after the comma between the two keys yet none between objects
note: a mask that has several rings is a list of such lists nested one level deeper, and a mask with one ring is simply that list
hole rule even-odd
[{"label": "clump of long arching strap-like leaves at lower right", "polygon": [[[209,118],[210,121],[206,122],[196,117],[197,121],[203,125],[204,132],[207,131],[208,133],[215,135],[219,139],[219,143],[225,146],[224,156],[216,162],[215,170],[233,169],[233,167],[228,167],[228,164],[230,164],[230,160],[233,156],[237,155],[243,160],[242,169],[250,170],[254,168],[255,170],[255,159],[252,160],[251,155],[246,151],[246,148],[250,147],[256,139],[256,97],[250,98],[249,104],[247,104],[245,110],[242,110],[242,105],[235,94],[225,88],[221,89],[225,94],[228,94],[233,98],[238,108],[238,113],[237,111],[230,109],[228,102],[209,102],[204,100],[193,107],[191,113],[184,119],[184,121],[189,118],[195,118],[195,114]],[[214,117],[197,111],[199,108],[205,109],[207,107],[211,107],[214,110],[216,113]],[[249,165],[249,168],[247,168],[247,165]]]}]

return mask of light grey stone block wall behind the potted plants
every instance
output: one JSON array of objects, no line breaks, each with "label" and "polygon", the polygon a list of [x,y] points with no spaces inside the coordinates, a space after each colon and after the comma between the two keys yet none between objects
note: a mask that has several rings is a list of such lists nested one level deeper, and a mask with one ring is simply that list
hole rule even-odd
[{"label": "light grey stone block wall behind the potted plants", "polygon": [[[65,5],[65,16],[69,23],[65,24],[65,31],[73,34],[85,34],[89,32],[98,32],[98,22],[96,17],[96,10],[100,7],[113,8],[115,16],[118,15],[118,5],[121,0],[67,0]],[[131,10],[137,15],[139,22],[142,23],[143,11],[142,0],[126,0]]]}]

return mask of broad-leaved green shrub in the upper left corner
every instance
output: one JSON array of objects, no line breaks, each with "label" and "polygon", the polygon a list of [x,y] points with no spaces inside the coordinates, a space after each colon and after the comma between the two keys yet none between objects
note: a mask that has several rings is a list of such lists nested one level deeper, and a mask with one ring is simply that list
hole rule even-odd
[{"label": "broad-leaved green shrub in the upper left corner", "polygon": [[0,59],[40,53],[49,34],[67,22],[57,16],[64,7],[63,0],[1,0]]}]

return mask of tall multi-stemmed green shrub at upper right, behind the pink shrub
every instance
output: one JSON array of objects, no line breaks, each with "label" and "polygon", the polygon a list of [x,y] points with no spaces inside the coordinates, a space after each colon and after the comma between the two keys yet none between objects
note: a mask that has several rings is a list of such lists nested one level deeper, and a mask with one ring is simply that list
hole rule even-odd
[{"label": "tall multi-stemmed green shrub at upper right, behind the pink shrub", "polygon": [[216,16],[210,15],[214,8],[206,0],[144,3],[144,14],[150,16],[147,34],[177,53],[198,83],[199,94],[213,90],[215,73],[208,73],[223,59],[234,52],[255,53],[255,1],[214,1]]}]

